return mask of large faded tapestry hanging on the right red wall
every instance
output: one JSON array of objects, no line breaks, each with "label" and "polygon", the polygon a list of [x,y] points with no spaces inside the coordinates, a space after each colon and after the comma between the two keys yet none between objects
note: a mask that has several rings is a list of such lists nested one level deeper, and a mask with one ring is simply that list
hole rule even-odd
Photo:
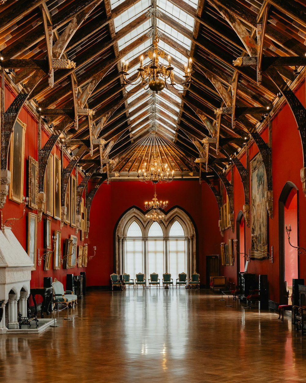
[{"label": "large faded tapestry hanging on the right red wall", "polygon": [[266,176],[262,156],[258,153],[250,162],[251,171],[251,259],[265,259],[268,250],[268,216],[265,202]]}]

